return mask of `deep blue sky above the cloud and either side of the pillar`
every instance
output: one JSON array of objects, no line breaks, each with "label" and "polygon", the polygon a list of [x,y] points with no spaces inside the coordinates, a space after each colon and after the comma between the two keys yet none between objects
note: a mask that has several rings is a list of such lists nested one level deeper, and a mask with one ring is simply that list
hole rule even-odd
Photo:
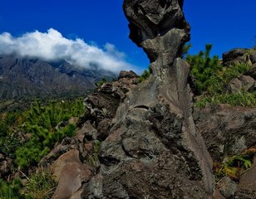
[{"label": "deep blue sky above the cloud and either side of the pillar", "polygon": [[[67,39],[81,38],[99,49],[112,44],[114,53],[126,54],[121,59],[138,66],[137,71],[143,70],[149,61],[128,38],[121,6],[122,0],[2,0],[0,34],[19,37],[53,28]],[[185,0],[185,17],[192,28],[190,53],[204,49],[206,43],[212,43],[212,54],[219,56],[234,47],[254,46],[255,10],[255,0]]]}]

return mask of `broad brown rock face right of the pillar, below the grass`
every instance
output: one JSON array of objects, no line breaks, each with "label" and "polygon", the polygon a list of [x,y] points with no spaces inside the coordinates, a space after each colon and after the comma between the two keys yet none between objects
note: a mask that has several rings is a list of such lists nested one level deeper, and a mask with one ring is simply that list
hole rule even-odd
[{"label": "broad brown rock face right of the pillar, below the grass", "polygon": [[256,144],[256,109],[209,105],[194,110],[196,130],[202,134],[214,161],[239,154]]}]

